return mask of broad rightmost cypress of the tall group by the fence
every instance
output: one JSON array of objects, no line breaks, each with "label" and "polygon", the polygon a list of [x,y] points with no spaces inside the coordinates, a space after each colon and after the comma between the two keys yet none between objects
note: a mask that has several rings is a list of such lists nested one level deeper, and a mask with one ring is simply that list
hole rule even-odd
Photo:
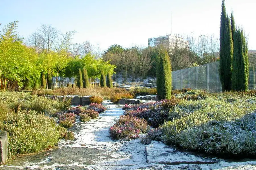
[{"label": "broad rightmost cypress of the tall group by the fence", "polygon": [[249,65],[248,65],[247,46],[243,31],[237,29],[234,32],[234,54],[232,89],[237,91],[248,90]]}]

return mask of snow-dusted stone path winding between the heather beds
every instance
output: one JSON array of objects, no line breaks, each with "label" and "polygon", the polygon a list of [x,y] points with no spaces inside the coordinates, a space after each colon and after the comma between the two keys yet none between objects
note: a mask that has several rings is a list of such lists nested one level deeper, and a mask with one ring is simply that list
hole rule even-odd
[{"label": "snow-dusted stone path winding between the heather beds", "polygon": [[78,122],[72,128],[74,141],[61,141],[59,148],[25,155],[7,162],[0,169],[55,169],[55,170],[170,170],[170,169],[256,169],[256,161],[225,162],[180,152],[161,142],[141,144],[139,139],[113,141],[109,128],[123,114],[121,106],[110,101],[108,109],[96,120]]}]

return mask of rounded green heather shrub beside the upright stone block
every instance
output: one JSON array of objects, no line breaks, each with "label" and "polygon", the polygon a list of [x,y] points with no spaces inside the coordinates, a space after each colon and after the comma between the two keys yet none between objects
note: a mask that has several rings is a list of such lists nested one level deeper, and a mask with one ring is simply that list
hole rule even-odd
[{"label": "rounded green heather shrub beside the upright stone block", "polygon": [[9,158],[57,145],[61,129],[52,118],[36,111],[9,112],[0,121],[0,130],[8,132]]}]

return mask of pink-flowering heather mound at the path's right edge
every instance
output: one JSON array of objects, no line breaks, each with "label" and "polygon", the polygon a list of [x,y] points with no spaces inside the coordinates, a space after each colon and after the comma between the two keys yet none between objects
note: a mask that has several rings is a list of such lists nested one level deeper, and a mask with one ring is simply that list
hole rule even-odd
[{"label": "pink-flowering heather mound at the path's right edge", "polygon": [[146,133],[149,126],[146,120],[133,116],[120,116],[110,128],[110,136],[113,139],[130,139],[139,137],[139,133]]}]

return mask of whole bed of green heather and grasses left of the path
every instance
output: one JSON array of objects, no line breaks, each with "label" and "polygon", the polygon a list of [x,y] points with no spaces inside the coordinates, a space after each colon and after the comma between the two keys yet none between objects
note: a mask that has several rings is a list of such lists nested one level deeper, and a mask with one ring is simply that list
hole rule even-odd
[{"label": "whole bed of green heather and grasses left of the path", "polygon": [[29,93],[0,92],[0,130],[8,133],[8,158],[54,147],[61,138],[73,139],[71,131],[48,116],[58,111],[56,104]]}]

